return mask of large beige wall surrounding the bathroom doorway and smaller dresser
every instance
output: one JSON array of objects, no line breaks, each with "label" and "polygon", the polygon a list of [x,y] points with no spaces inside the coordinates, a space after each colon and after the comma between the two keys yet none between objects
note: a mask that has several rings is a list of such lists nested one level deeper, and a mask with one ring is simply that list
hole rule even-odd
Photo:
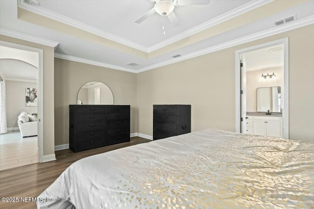
[{"label": "large beige wall surrounding the bathroom doorway and smaller dresser", "polygon": [[235,50],[289,37],[289,136],[314,140],[314,25],[137,74],[138,130],[153,133],[153,104],[191,104],[192,131],[235,131]]}]

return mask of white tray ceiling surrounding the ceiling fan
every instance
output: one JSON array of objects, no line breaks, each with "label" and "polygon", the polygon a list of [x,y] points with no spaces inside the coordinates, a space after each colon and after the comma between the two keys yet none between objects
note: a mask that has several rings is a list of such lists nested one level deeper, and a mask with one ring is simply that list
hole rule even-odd
[{"label": "white tray ceiling surrounding the ceiling fan", "polygon": [[[210,28],[215,24],[273,2],[273,0],[210,0],[208,5],[177,6],[174,12],[181,24],[178,27],[173,27],[166,17],[158,14],[154,14],[143,23],[134,23],[154,6],[155,2],[150,0],[38,0],[39,6],[31,6],[26,4],[24,0],[18,1],[20,5],[24,5],[24,9],[31,12],[74,25],[125,46],[131,46],[134,50],[147,53],[183,38],[187,37],[188,39],[202,29]],[[65,32],[55,31],[50,29],[50,25],[43,27],[20,20],[17,18],[17,7],[18,2],[16,0],[0,0],[1,34],[22,33],[37,37],[38,40],[45,39],[57,42],[59,45],[55,48],[56,57],[131,72],[154,69],[158,66],[197,56],[200,54],[199,52],[204,50],[210,52],[210,48],[222,46],[224,43],[236,42],[240,38],[261,31],[274,29],[276,26],[273,22],[294,14],[296,14],[297,21],[314,17],[314,0],[305,1],[262,19],[230,28],[230,30],[218,35],[187,46],[177,47],[147,59]],[[165,25],[165,35],[163,35],[162,30],[163,24]],[[182,57],[173,58],[172,56],[175,54],[181,54]],[[128,66],[127,64],[131,62],[140,65]]]}]

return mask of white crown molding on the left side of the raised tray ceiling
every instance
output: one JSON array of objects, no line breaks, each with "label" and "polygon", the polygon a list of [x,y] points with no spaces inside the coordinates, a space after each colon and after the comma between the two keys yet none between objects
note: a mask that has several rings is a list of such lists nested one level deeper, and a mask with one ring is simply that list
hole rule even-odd
[{"label": "white crown molding on the left side of the raised tray ceiling", "polygon": [[114,42],[117,42],[117,43],[120,43],[120,44],[123,44],[126,46],[130,46],[130,47],[138,49],[140,51],[147,52],[147,47],[145,47],[145,46],[142,46],[142,45],[136,44],[134,42],[131,42],[129,40],[126,40],[124,38],[115,36],[111,33],[97,29],[97,28],[92,27],[90,25],[87,25],[85,23],[78,22],[78,21],[73,20],[71,18],[60,15],[56,12],[52,12],[48,9],[45,9],[43,7],[29,5],[29,4],[25,3],[24,0],[18,0],[18,7],[25,9],[27,11],[30,11],[30,12],[36,13],[38,15],[50,18],[52,20],[71,25],[73,27],[76,27],[76,28],[79,28],[81,30],[87,31],[89,33],[101,36],[101,37],[109,39],[111,41],[114,41]]}]

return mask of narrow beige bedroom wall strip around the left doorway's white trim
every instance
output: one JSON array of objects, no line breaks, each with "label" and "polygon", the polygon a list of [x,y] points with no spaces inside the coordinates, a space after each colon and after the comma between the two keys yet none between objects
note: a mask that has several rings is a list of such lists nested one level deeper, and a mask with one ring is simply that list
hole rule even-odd
[{"label": "narrow beige bedroom wall strip around the left doorway's white trim", "polygon": [[54,48],[0,35],[0,40],[40,48],[44,51],[44,156],[54,154],[54,97],[53,71]]}]

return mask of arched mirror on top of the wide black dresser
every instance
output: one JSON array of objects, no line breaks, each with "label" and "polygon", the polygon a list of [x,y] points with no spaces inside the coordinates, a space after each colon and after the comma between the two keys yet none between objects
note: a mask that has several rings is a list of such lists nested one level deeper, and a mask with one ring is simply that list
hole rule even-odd
[{"label": "arched mirror on top of the wide black dresser", "polygon": [[102,82],[91,81],[84,84],[78,91],[78,105],[113,105],[113,93]]}]

